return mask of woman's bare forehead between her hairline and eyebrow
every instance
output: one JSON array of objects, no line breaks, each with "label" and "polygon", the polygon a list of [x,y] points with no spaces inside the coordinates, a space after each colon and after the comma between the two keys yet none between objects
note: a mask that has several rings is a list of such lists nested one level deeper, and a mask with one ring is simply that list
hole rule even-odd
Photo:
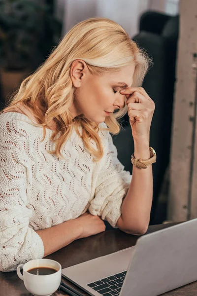
[{"label": "woman's bare forehead between her hairline and eyebrow", "polygon": [[[135,66],[131,64],[129,66],[123,66],[120,68],[120,71],[114,73],[107,73],[105,78],[108,78],[110,82],[118,83],[124,82],[131,86],[132,76],[134,74]],[[124,86],[124,85],[122,85]]]}]

